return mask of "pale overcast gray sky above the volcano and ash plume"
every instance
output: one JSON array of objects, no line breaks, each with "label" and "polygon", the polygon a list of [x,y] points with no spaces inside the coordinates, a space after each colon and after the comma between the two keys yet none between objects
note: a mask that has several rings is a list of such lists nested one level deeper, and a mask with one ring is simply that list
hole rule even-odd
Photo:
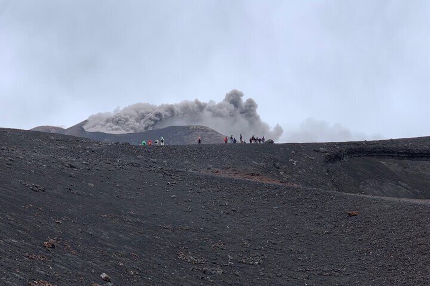
[{"label": "pale overcast gray sky above the volcano and ash plume", "polygon": [[0,0],[0,126],[237,89],[280,141],[430,135],[430,1]]}]

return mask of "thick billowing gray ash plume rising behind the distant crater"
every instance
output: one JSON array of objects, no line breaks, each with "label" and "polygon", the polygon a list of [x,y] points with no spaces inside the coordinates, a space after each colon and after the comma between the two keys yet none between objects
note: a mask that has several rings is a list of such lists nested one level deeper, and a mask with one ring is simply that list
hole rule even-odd
[{"label": "thick billowing gray ash plume rising behind the distant crater", "polygon": [[97,113],[88,118],[85,130],[113,134],[136,133],[173,125],[204,125],[222,134],[244,138],[252,135],[278,140],[283,130],[277,124],[273,129],[263,122],[257,112],[257,103],[243,93],[232,90],[224,100],[201,102],[182,101],[159,106],[136,103],[114,112]]}]

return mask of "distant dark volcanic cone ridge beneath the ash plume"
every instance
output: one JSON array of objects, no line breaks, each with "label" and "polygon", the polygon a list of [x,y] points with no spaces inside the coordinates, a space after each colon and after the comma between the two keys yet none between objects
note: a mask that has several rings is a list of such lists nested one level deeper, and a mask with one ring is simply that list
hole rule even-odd
[{"label": "distant dark volcanic cone ridge beneath the ash plume", "polygon": [[162,129],[148,130],[139,133],[110,134],[103,132],[88,132],[84,129],[86,124],[87,120],[84,120],[67,129],[54,126],[38,126],[30,130],[71,135],[102,142],[128,142],[133,145],[141,144],[142,140],[154,141],[156,139],[160,139],[161,136],[164,137],[166,144],[168,145],[197,144],[199,136],[202,138],[202,144],[224,143],[223,139],[225,137],[225,135],[201,125],[169,126]]}]

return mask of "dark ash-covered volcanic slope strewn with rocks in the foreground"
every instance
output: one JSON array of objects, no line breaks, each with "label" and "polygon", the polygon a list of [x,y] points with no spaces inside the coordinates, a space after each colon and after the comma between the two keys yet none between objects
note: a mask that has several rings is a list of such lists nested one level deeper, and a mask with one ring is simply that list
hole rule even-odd
[{"label": "dark ash-covered volcanic slope strewn with rocks in the foreground", "polygon": [[428,285],[429,143],[0,129],[0,284]]}]

